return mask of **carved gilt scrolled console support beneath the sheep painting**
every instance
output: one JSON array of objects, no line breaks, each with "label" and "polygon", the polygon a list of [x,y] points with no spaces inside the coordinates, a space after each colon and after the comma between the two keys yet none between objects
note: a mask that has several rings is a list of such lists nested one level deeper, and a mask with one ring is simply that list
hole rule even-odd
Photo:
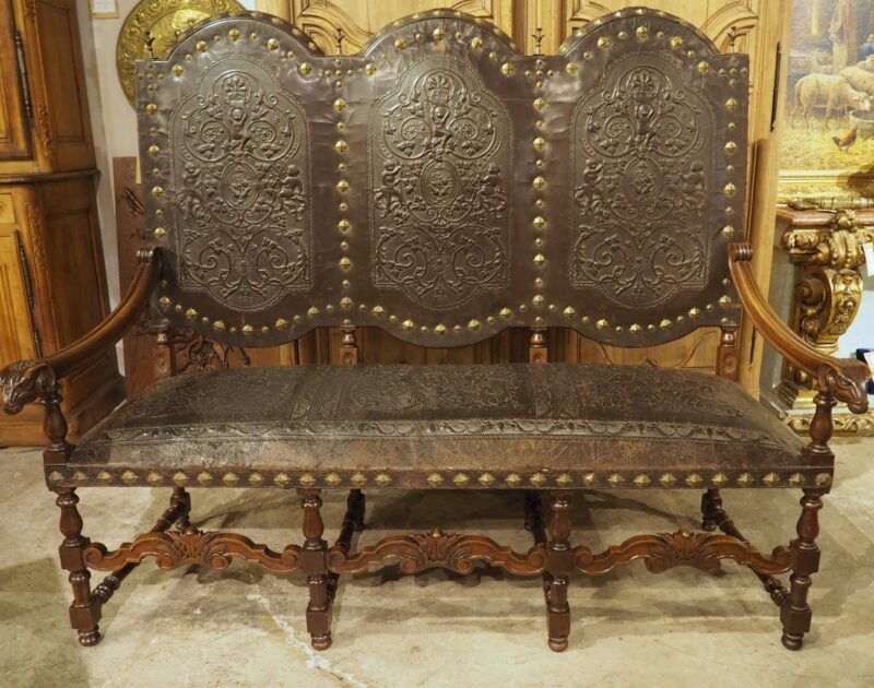
[{"label": "carved gilt scrolled console support beneath the sheep painting", "polygon": [[[853,323],[862,300],[864,245],[874,241],[874,210],[823,211],[787,207],[778,212],[782,248],[799,266],[790,324],[824,354],[835,355],[838,341]],[[815,408],[812,380],[783,364],[776,395],[790,410],[787,423],[806,431]],[[874,415],[836,413],[836,430],[874,432]]]}]

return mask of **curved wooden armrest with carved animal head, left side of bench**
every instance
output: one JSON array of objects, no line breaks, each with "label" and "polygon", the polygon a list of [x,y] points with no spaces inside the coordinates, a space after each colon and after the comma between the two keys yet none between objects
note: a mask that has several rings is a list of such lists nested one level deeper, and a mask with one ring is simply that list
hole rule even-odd
[{"label": "curved wooden armrest with carved animal head, left side of bench", "polygon": [[55,393],[58,380],[113,346],[149,306],[161,272],[161,249],[142,248],[131,286],[118,307],[94,330],[69,346],[37,360],[17,360],[0,370],[3,411],[19,413],[26,404]]}]

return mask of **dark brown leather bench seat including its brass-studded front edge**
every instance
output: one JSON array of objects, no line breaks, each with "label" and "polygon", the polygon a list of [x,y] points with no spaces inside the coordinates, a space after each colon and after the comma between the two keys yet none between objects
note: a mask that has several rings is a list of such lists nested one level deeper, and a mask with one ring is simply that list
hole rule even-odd
[{"label": "dark brown leather bench seat including its brass-studded front edge", "polygon": [[284,486],[309,476],[328,487],[338,485],[332,475],[354,487],[356,474],[370,485],[387,475],[390,487],[428,487],[435,473],[442,487],[456,486],[459,473],[470,478],[460,487],[491,486],[483,474],[509,487],[530,487],[535,475],[552,486],[560,475],[601,487],[634,487],[643,475],[649,482],[638,486],[659,486],[669,474],[664,487],[760,487],[775,479],[768,474],[775,485],[830,474],[801,448],[736,384],[689,371],[300,366],[157,382],[87,435],[69,465],[50,470],[71,482],[79,472],[79,484],[172,484],[181,475],[197,486],[229,473],[234,485],[280,475]]}]

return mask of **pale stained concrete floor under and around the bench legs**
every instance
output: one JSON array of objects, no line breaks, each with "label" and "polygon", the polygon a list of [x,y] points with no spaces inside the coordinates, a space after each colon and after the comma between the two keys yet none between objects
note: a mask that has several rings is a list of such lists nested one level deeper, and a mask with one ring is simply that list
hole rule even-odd
[{"label": "pale stained concrete floor under and around the bench legs", "polygon": [[[871,686],[874,685],[874,439],[837,446],[838,485],[822,512],[814,628],[800,653],[780,645],[777,609],[748,571],[725,565],[653,576],[641,564],[575,578],[570,648],[546,648],[539,579],[393,570],[341,581],[334,645],[315,652],[302,576],[235,562],[223,572],[165,572],[151,560],[104,609],[104,640],[80,648],[58,567],[57,508],[34,451],[0,452],[0,685],[19,686]],[[151,526],[168,489],[81,489],[84,533],[115,546]],[[194,521],[274,548],[299,542],[294,494],[192,490]],[[787,543],[796,491],[725,490],[737,525],[763,549]],[[693,491],[588,493],[575,500],[577,542],[696,527]],[[335,534],[341,493],[326,499]],[[370,496],[373,542],[404,529],[466,527],[525,549],[520,495]]]}]

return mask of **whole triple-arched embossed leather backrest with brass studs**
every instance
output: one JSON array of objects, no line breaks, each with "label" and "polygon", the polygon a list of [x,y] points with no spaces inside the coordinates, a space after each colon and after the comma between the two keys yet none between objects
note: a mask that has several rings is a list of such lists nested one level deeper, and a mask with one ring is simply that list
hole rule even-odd
[{"label": "whole triple-arched embossed leather backrest with brass studs", "polygon": [[457,12],[318,55],[257,13],[137,66],[157,322],[274,345],[510,325],[622,346],[735,324],[748,60],[626,10],[557,56]]}]

